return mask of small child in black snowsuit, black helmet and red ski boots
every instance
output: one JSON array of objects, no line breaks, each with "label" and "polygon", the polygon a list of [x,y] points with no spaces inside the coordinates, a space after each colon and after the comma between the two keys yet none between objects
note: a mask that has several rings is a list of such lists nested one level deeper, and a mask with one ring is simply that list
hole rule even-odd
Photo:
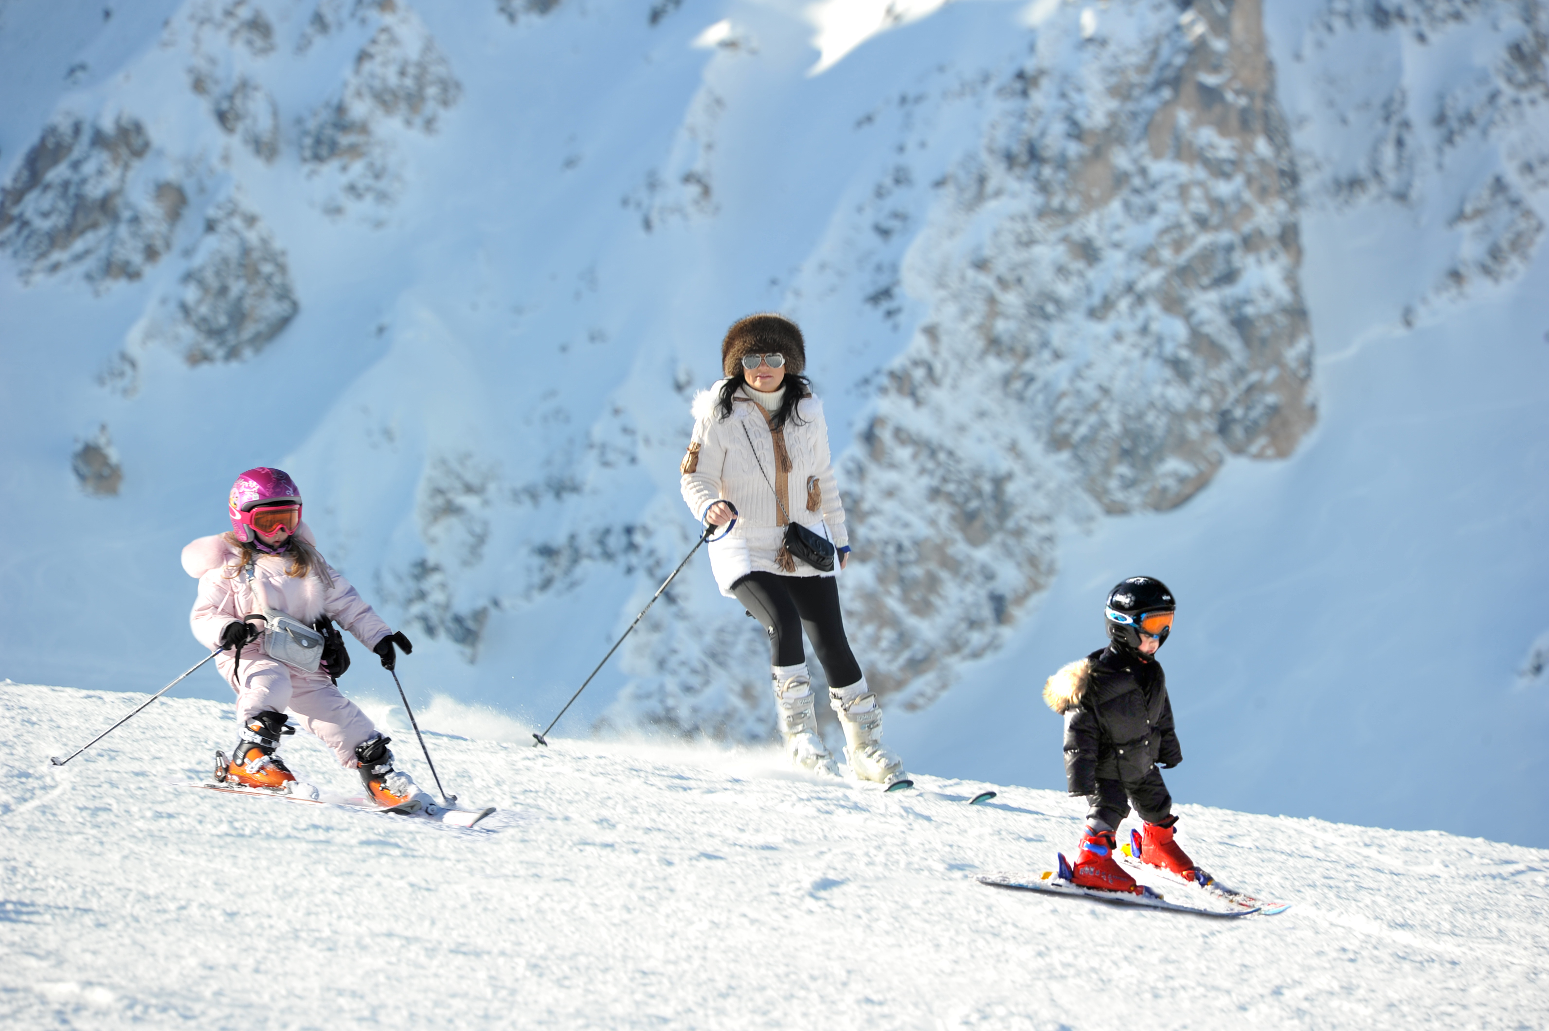
[{"label": "small child in black snowsuit, black helmet and red ski boots", "polygon": [[1197,868],[1173,841],[1173,796],[1157,766],[1183,762],[1173,704],[1156,652],[1173,629],[1176,602],[1162,581],[1135,576],[1108,594],[1109,644],[1064,666],[1044,684],[1044,701],[1064,715],[1066,779],[1090,803],[1081,855],[1072,868],[1083,887],[1135,892],[1114,861],[1114,834],[1131,802],[1145,831],[1140,859],[1194,879]]}]

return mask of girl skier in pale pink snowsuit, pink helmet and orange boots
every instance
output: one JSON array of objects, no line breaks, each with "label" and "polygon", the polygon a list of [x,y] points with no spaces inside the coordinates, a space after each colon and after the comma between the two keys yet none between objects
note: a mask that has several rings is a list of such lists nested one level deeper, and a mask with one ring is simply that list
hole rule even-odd
[{"label": "girl skier in pale pink snowsuit, pink helmet and orange boots", "polygon": [[231,486],[231,533],[200,537],[183,550],[183,568],[198,577],[189,624],[206,649],[229,649],[215,664],[237,692],[242,723],[231,760],[217,760],[215,779],[288,791],[296,777],[276,751],[282,735],[296,732],[287,726],[290,709],[341,765],[359,768],[378,805],[403,805],[423,793],[393,769],[390,738],[339,694],[335,680],[349,658],[338,632],[336,646],[324,646],[328,621],[338,619],[386,669],[397,663],[393,644],[404,655],[414,647],[318,554],[301,508],[290,475],[248,469]]}]

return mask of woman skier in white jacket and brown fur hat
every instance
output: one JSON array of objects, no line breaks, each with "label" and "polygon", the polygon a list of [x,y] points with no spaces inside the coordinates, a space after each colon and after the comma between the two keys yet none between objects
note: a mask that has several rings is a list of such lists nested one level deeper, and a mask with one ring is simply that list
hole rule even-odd
[{"label": "woman skier in white jacket and brown fur hat", "polygon": [[[818,735],[805,627],[844,729],[850,771],[897,783],[903,760],[881,746],[881,709],[840,615],[836,576],[849,560],[849,536],[823,402],[802,376],[801,330],[778,314],[740,319],[720,344],[720,364],[725,379],[694,398],[683,500],[697,520],[725,528],[709,543],[716,584],[768,633],[785,754],[798,766],[836,772]],[[836,560],[827,557],[833,550]]]}]

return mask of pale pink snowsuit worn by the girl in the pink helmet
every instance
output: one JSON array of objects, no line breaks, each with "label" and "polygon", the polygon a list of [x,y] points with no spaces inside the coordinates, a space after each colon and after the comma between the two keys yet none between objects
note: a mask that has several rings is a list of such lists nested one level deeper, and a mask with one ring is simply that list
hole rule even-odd
[{"label": "pale pink snowsuit worn by the girl in the pink helmet", "polygon": [[[301,523],[296,536],[313,542],[311,528]],[[198,577],[198,598],[189,613],[194,638],[209,650],[220,646],[220,632],[228,622],[265,608],[277,608],[305,624],[319,616],[331,616],[361,644],[372,647],[392,630],[372,611],[350,582],[328,568],[333,587],[324,584],[316,570],[307,576],[287,576],[288,556],[260,554],[251,571],[239,565],[242,550],[225,534],[200,537],[183,548],[183,568]],[[262,625],[262,624],[257,624]],[[242,649],[240,684],[232,680],[234,658],[229,652],[215,659],[226,683],[237,692],[237,720],[273,711],[290,709],[301,717],[307,731],[333,749],[339,763],[359,766],[355,748],[376,735],[376,726],[359,706],[339,694],[328,675],[318,669],[305,672],[271,659],[254,641]]]}]

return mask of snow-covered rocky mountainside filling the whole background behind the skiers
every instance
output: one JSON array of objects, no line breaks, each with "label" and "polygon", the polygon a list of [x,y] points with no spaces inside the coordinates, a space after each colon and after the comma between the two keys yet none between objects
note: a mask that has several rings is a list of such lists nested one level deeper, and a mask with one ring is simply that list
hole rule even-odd
[{"label": "snow-covered rocky mountainside filling the whole background behind the skiers", "polygon": [[[917,769],[1056,785],[1036,684],[1145,568],[1185,598],[1179,797],[1546,841],[1541,5],[1270,3],[1262,37],[1253,3],[43,8],[0,8],[0,497],[28,542],[0,554],[0,675],[184,667],[173,556],[273,461],[415,636],[415,698],[541,724],[692,543],[688,395],[779,307],[849,449],[863,663],[936,698],[889,717]],[[1193,132],[1159,158],[1104,90]],[[1117,195],[1049,173],[1094,164]],[[1235,310],[1278,327],[1262,353]],[[1035,344],[1069,390],[998,421]],[[1298,384],[1284,432],[1255,421],[1270,379]],[[956,450],[875,457],[888,420]],[[1177,461],[1128,480],[1157,441]],[[1228,458],[1266,447],[1292,457]],[[1166,516],[1103,514],[1216,469]],[[911,587],[922,540],[968,573]],[[765,676],[697,563],[559,729],[767,737]]]}]

